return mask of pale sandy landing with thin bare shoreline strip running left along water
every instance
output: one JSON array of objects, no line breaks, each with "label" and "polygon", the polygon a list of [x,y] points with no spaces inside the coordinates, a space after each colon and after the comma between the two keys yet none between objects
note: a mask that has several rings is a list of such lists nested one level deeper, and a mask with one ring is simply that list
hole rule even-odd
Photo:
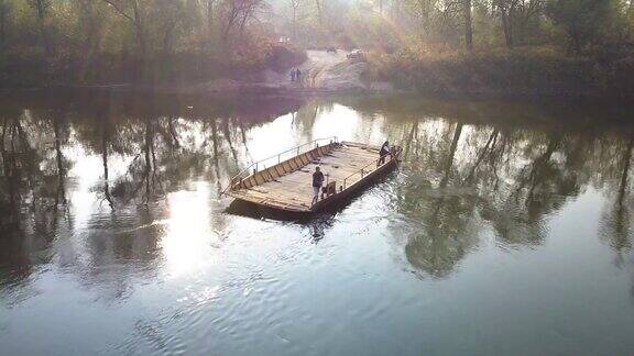
[{"label": "pale sandy landing with thin bare shoreline strip running left along water", "polygon": [[[368,79],[369,65],[365,62],[349,60],[348,52],[326,51],[291,52],[281,51],[267,65],[249,68],[227,68],[221,75],[205,74],[188,78],[193,68],[184,70],[177,80],[155,80],[150,82],[53,82],[18,89],[112,91],[165,94],[206,94],[215,98],[240,96],[313,97],[329,93],[394,93],[391,84]],[[199,63],[197,67],[204,67]],[[212,66],[208,64],[207,66]],[[291,70],[298,68],[302,76],[291,80]],[[4,88],[8,89],[8,88]],[[0,87],[0,90],[2,88]]]}]

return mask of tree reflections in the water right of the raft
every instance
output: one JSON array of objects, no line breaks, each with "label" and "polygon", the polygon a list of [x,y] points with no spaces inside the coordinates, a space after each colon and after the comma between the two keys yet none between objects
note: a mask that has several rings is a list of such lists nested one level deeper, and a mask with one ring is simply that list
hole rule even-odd
[{"label": "tree reflections in the water right of the raft", "polygon": [[[624,164],[631,159],[630,141],[614,130],[597,130],[595,121],[587,121],[583,126],[551,119],[553,124],[538,126],[522,123],[522,119],[515,125],[492,119],[485,125],[467,126],[473,116],[483,113],[504,115],[484,105],[477,107],[473,115],[451,108],[415,108],[424,114],[414,120],[409,112],[385,114],[398,123],[391,135],[400,135],[404,142],[406,169],[394,205],[406,218],[405,223],[397,223],[408,236],[405,255],[412,266],[436,278],[450,274],[478,245],[482,221],[505,246],[543,244],[548,234],[547,220],[569,198],[590,185],[608,183],[615,156],[606,149],[625,156],[620,158],[621,177],[630,170]],[[431,119],[436,111],[463,121],[439,122]],[[401,133],[395,133],[398,130]],[[628,191],[624,179],[617,190],[620,200]],[[616,212],[619,216],[627,215],[623,208]],[[613,225],[620,227],[606,235],[614,238],[623,229],[623,218],[612,221],[619,221]],[[630,242],[631,237],[620,240]]]}]

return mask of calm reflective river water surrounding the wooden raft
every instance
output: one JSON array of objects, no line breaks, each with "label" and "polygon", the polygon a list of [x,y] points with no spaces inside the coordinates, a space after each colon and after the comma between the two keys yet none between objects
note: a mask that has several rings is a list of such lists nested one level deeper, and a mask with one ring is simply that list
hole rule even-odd
[{"label": "calm reflective river water surrounding the wooden raft", "polygon": [[[0,105],[0,354],[634,352],[619,104],[63,96]],[[404,147],[336,212],[228,209],[249,162]]]}]

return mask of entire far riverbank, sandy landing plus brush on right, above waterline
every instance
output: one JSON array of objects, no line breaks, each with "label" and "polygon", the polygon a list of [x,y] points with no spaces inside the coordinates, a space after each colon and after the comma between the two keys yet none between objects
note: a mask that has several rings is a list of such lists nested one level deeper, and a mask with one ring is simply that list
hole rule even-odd
[{"label": "entire far riverbank, sandy landing plus brush on right, above waterline", "polygon": [[[370,53],[367,60],[349,60],[347,52],[287,52],[271,55],[269,64],[228,66],[211,74],[204,58],[183,59],[171,73],[172,80],[113,84],[42,81],[0,90],[84,90],[166,94],[204,94],[226,99],[240,96],[314,97],[326,94],[420,93],[445,97],[592,97],[634,96],[634,57],[594,55],[566,56],[553,51],[446,52],[441,54],[401,51]],[[204,69],[207,68],[207,69]],[[302,78],[291,80],[291,69]],[[160,71],[160,70],[151,70]],[[199,71],[196,77],[194,73]],[[12,74],[18,77],[19,75]],[[3,75],[4,77],[8,74]],[[117,78],[117,77],[112,77]],[[42,80],[42,79],[39,79]],[[25,81],[24,84],[37,82]]]}]

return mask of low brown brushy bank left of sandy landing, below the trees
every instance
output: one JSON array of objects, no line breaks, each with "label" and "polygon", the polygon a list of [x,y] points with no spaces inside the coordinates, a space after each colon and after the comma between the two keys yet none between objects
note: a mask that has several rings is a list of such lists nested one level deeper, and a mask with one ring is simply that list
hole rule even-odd
[{"label": "low brown brushy bank left of sandy landing, below the trees", "polygon": [[39,47],[0,52],[0,89],[52,87],[108,90],[164,90],[214,80],[258,82],[264,73],[285,73],[307,60],[292,45],[265,44],[251,52],[136,54],[47,54]]}]

